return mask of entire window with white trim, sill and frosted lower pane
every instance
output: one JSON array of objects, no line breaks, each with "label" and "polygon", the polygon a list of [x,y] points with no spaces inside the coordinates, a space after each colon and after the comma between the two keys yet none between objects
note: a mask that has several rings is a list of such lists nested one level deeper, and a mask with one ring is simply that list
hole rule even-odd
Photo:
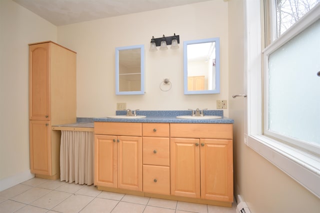
[{"label": "entire window with white trim, sill and frosted lower pane", "polygon": [[320,198],[320,3],[264,0],[264,26],[260,2],[245,0],[245,143]]}]

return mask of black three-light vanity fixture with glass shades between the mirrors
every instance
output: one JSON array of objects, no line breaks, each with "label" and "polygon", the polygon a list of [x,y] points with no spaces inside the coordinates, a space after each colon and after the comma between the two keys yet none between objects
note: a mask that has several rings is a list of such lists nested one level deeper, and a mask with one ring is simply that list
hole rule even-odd
[{"label": "black three-light vanity fixture with glass shades between the mirrors", "polygon": [[170,49],[177,49],[179,48],[178,43],[180,43],[179,40],[179,35],[174,35],[173,36],[167,36],[165,37],[164,35],[160,38],[154,38],[152,36],[151,42],[150,42],[150,52],[155,52],[157,51],[157,46],[160,46],[160,50],[166,50],[168,49],[166,45],[171,45]]}]

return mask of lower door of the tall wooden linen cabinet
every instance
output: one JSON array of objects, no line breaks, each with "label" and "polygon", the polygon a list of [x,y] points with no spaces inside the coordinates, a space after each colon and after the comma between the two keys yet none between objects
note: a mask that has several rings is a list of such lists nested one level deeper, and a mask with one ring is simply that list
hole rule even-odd
[{"label": "lower door of the tall wooden linen cabinet", "polygon": [[48,121],[29,121],[30,170],[51,175],[51,130]]}]

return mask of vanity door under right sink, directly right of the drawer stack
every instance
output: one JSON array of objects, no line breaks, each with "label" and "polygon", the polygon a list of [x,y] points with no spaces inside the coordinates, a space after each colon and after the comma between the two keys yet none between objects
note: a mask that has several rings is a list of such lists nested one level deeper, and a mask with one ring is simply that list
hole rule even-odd
[{"label": "vanity door under right sink, directly right of the drawer stack", "polygon": [[199,139],[170,139],[171,195],[200,198]]}]

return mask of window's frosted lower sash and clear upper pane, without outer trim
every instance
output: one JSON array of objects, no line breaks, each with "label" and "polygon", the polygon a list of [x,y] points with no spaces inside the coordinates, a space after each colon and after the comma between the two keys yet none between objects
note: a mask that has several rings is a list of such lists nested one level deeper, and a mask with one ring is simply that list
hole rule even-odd
[{"label": "window's frosted lower sash and clear upper pane, without outer trim", "polygon": [[297,34],[264,51],[264,134],[320,154],[320,19],[297,22],[317,1],[275,0],[273,28]]}]

